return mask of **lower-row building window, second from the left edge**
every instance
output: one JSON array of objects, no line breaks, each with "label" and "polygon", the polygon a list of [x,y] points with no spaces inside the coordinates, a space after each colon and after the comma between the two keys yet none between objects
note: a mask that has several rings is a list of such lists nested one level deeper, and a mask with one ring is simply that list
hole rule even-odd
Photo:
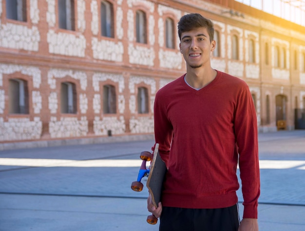
[{"label": "lower-row building window, second from the left edge", "polygon": [[76,114],[76,86],[74,83],[61,83],[61,113]]}]

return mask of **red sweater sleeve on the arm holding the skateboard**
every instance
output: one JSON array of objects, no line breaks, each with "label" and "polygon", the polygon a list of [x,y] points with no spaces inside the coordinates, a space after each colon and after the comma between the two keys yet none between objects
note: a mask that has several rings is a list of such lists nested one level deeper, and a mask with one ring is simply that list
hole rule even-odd
[{"label": "red sweater sleeve on the arm holding the skateboard", "polygon": [[[171,150],[173,128],[167,117],[166,106],[162,93],[157,92],[154,101],[154,137],[155,143],[159,143],[159,153],[168,166],[168,159]],[[152,148],[152,150],[154,147]]]}]

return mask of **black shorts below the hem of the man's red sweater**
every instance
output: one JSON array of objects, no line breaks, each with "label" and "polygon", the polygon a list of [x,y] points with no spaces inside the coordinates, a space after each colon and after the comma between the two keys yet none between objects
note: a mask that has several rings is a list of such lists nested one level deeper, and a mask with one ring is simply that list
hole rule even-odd
[{"label": "black shorts below the hem of the man's red sweater", "polygon": [[222,209],[163,207],[159,231],[237,231],[238,206]]}]

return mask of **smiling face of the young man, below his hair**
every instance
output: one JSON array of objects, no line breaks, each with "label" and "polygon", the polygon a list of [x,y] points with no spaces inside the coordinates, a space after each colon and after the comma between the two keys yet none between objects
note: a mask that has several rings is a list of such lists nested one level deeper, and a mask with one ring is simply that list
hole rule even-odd
[{"label": "smiling face of the young man, below his hair", "polygon": [[210,42],[207,28],[199,27],[181,34],[180,52],[187,65],[199,68],[210,62],[211,51],[215,49],[216,42]]}]

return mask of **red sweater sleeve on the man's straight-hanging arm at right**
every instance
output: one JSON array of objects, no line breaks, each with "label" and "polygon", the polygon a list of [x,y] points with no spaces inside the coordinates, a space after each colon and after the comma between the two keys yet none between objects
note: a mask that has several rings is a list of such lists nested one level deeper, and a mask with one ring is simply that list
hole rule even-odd
[{"label": "red sweater sleeve on the man's straight-hanging arm at right", "polygon": [[236,145],[244,197],[243,218],[257,218],[260,195],[257,118],[248,86],[238,96],[234,115]]}]

